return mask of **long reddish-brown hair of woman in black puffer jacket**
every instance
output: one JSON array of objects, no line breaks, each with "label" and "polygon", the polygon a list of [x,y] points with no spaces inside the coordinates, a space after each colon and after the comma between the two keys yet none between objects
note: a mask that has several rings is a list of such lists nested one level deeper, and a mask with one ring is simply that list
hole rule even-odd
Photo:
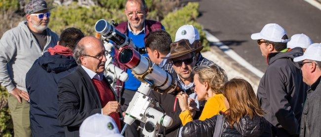
[{"label": "long reddish-brown hair of woman in black puffer jacket", "polygon": [[233,78],[223,86],[223,95],[229,102],[230,108],[226,111],[226,119],[230,126],[239,123],[244,116],[263,116],[264,111],[250,83],[241,78]]}]

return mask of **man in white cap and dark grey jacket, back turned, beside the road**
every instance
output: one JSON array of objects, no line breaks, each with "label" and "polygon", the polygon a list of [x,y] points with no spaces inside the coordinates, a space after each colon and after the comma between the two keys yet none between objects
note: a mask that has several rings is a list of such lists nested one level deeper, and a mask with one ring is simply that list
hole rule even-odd
[{"label": "man in white cap and dark grey jacket, back turned, beside the road", "polygon": [[260,80],[257,97],[265,119],[272,125],[275,137],[298,136],[307,85],[303,83],[302,71],[293,59],[303,55],[301,47],[286,48],[288,38],[285,30],[271,23],[260,33],[252,34],[257,40],[268,68]]}]

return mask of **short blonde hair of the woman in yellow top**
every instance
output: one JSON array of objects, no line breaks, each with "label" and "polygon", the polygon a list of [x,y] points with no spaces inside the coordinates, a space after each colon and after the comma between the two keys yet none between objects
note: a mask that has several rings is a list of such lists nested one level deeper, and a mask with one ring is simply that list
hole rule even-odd
[{"label": "short blonde hair of the woman in yellow top", "polygon": [[221,94],[221,87],[227,82],[227,75],[221,67],[217,64],[210,64],[208,66],[197,66],[193,69],[194,74],[199,74],[199,81],[203,84],[208,83],[212,92]]}]

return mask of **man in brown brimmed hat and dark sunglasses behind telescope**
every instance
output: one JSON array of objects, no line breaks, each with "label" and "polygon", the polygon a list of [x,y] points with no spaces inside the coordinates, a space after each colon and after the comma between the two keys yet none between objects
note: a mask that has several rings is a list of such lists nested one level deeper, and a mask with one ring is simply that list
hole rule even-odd
[{"label": "man in brown brimmed hat and dark sunglasses behind telescope", "polygon": [[[197,62],[196,53],[200,52],[202,48],[202,46],[194,48],[188,39],[181,39],[170,44],[169,56],[162,57],[162,59],[168,59],[173,64],[173,69],[177,73],[178,84],[188,94],[192,94],[191,89],[194,85],[192,69]],[[161,95],[157,92],[152,92],[150,95],[161,103],[165,113],[173,119],[172,125],[166,128],[166,137],[177,137],[181,127],[179,119],[181,110],[178,101],[175,101],[176,97],[171,94]]]}]

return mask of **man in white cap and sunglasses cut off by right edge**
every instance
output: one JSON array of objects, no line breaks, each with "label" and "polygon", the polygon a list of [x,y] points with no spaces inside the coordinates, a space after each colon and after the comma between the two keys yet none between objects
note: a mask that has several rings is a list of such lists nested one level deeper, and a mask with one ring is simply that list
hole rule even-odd
[{"label": "man in white cap and sunglasses cut off by right edge", "polygon": [[303,56],[293,61],[299,63],[304,83],[311,86],[304,103],[300,137],[321,137],[321,43],[311,44]]}]

